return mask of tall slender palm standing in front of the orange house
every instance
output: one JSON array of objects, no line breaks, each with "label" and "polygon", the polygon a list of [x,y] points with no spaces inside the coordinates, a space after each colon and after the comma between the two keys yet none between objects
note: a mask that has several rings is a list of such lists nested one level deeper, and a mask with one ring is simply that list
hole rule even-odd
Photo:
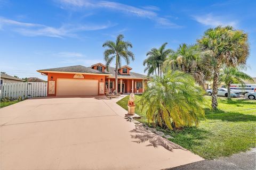
[{"label": "tall slender palm standing in front of the orange house", "polygon": [[108,70],[108,67],[110,63],[115,59],[116,60],[116,70],[115,70],[115,81],[116,81],[116,92],[118,87],[118,66],[121,67],[121,58],[123,58],[127,65],[130,64],[130,59],[134,61],[134,54],[129,50],[129,48],[132,48],[132,44],[129,41],[124,41],[124,36],[118,35],[116,38],[116,42],[114,41],[106,41],[102,47],[108,47],[104,51],[104,60],[106,62],[106,67]]}]

